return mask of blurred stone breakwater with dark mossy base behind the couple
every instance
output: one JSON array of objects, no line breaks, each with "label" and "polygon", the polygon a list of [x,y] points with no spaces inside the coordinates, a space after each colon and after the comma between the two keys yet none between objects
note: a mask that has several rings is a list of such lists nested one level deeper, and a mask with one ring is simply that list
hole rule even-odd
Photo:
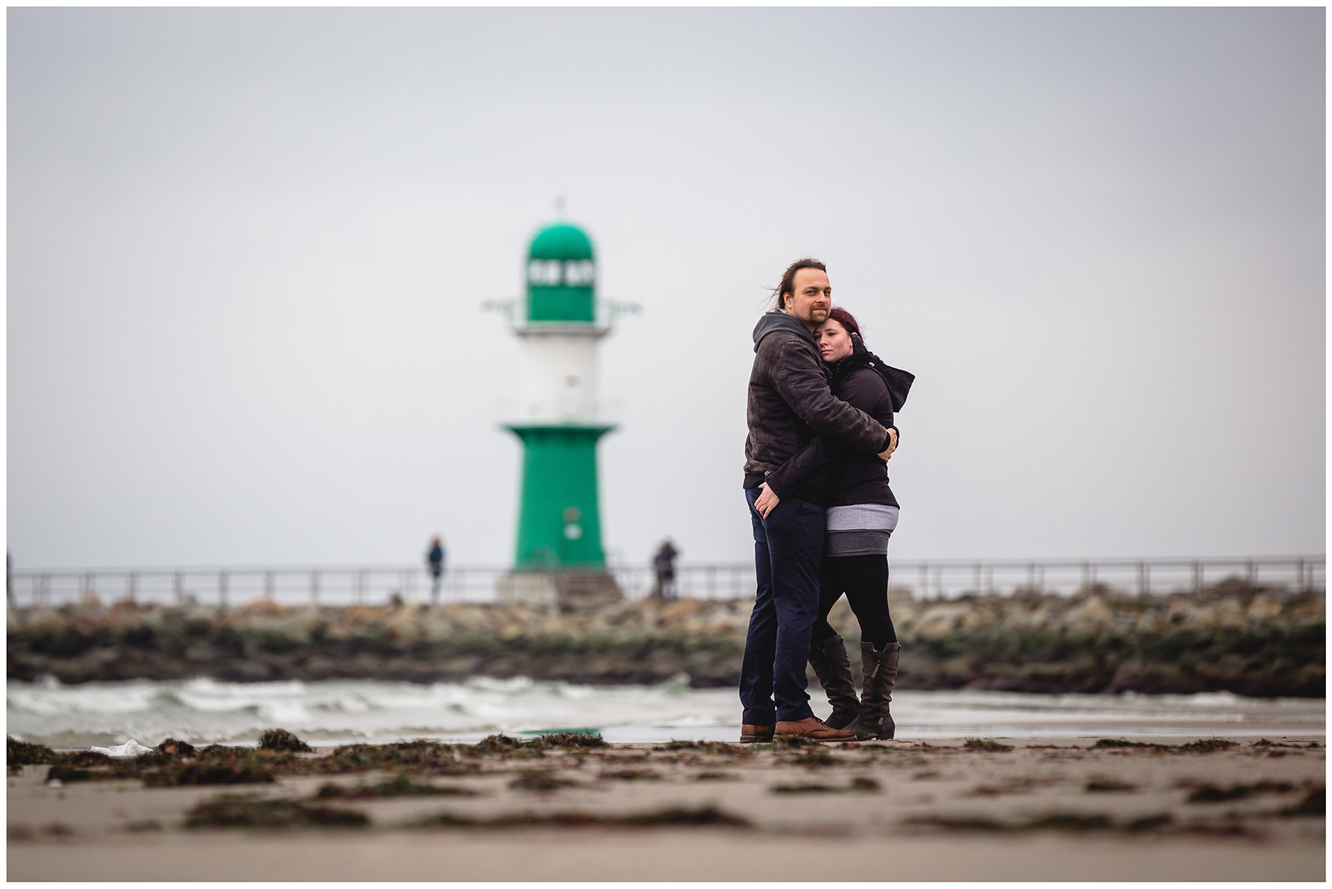
[{"label": "blurred stone breakwater with dark mossy base behind the couple", "polygon": [[[1221,584],[1197,594],[1020,593],[890,602],[899,688],[1010,692],[1227,690],[1321,697],[1325,597]],[[749,600],[622,601],[583,612],[519,604],[163,606],[96,600],[8,610],[12,680],[209,676],[226,681],[486,674],[570,682],[737,685]],[[844,600],[830,617],[859,672]],[[813,678],[813,677],[811,677]]]}]

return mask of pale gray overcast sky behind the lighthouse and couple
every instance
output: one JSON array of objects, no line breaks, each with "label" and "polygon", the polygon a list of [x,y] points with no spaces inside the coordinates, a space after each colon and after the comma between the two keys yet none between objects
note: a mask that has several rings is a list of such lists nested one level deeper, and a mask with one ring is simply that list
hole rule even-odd
[{"label": "pale gray overcast sky behind the lighthouse and couple", "polygon": [[794,259],[916,375],[895,558],[1324,550],[1324,11],[15,9],[16,566],[503,562],[567,196],[605,542],[751,557]]}]

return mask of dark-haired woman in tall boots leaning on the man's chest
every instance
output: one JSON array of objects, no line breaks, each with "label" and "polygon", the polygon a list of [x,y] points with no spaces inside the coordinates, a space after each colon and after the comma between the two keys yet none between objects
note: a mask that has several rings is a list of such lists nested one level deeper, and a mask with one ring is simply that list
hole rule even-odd
[{"label": "dark-haired woman in tall boots leaning on the man's chest", "polygon": [[[915,377],[887,367],[866,349],[860,325],[840,307],[829,312],[829,320],[814,336],[823,361],[831,365],[832,395],[884,427],[892,427],[894,411],[906,403]],[[827,525],[810,665],[832,705],[827,718],[830,726],[844,726],[862,741],[891,738],[895,725],[888,704],[902,645],[888,614],[888,537],[898,524],[898,501],[888,488],[883,461],[817,437],[767,476],[766,490],[754,506],[767,516],[783,490],[821,478]],[[860,622],[863,681],[859,700],[846,645],[827,622],[829,612],[843,593]]]}]

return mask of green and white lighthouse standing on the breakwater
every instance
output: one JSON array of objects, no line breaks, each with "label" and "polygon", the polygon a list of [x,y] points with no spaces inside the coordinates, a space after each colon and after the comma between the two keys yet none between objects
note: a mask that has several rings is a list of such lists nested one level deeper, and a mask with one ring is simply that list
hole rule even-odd
[{"label": "green and white lighthouse standing on the breakwater", "polygon": [[597,347],[637,307],[597,300],[591,239],[569,223],[535,233],[523,276],[523,297],[503,307],[522,344],[518,409],[502,423],[522,443],[522,482],[513,570],[497,594],[618,597],[601,537],[597,443],[615,427],[597,392]]}]

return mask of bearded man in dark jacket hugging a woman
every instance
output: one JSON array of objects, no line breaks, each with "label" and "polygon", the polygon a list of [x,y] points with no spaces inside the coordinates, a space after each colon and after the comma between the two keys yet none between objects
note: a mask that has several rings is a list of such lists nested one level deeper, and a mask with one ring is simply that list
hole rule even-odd
[{"label": "bearded man in dark jacket hugging a woman", "polygon": [[887,460],[896,446],[896,431],[838,400],[829,388],[813,335],[832,308],[832,287],[823,263],[793,263],[774,295],[777,307],[754,328],[746,408],[745,494],[754,526],[758,589],[741,664],[741,742],[770,741],[774,734],[854,741],[854,732],[831,729],[817,720],[805,692],[823,556],[821,485],[783,492],[767,517],[759,514],[754,501],[763,490],[765,476],[815,435]]}]

